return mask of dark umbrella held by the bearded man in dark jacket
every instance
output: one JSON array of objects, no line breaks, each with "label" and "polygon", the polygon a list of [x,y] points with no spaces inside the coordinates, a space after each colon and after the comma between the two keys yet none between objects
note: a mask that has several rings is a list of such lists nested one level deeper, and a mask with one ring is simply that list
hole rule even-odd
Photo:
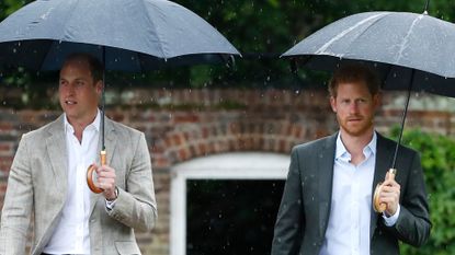
[{"label": "dark umbrella held by the bearded man in dark jacket", "polygon": [[282,57],[333,71],[362,62],[375,69],[385,90],[407,90],[408,97],[391,169],[395,170],[410,92],[455,97],[455,24],[408,12],[366,12],[346,16],[311,34]]}]

